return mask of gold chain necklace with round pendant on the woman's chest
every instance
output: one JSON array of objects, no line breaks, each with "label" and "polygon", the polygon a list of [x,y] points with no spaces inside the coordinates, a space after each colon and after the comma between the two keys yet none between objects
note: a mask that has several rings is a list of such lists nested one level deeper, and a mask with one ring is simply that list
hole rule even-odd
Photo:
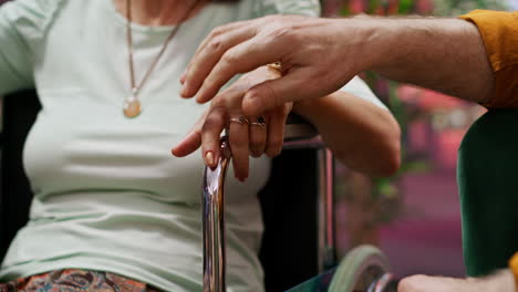
[{"label": "gold chain necklace with round pendant on the woman's chest", "polygon": [[189,7],[187,12],[179,20],[178,24],[173,29],[173,31],[169,33],[167,39],[165,40],[164,44],[162,45],[160,51],[158,52],[158,55],[153,60],[153,63],[151,64],[149,69],[147,70],[146,74],[144,74],[144,77],[139,82],[139,84],[136,84],[135,82],[135,69],[133,64],[133,38],[132,38],[132,6],[130,4],[130,0],[126,0],[126,39],[127,39],[127,52],[128,52],[128,67],[130,67],[130,81],[131,81],[131,95],[126,97],[124,101],[124,106],[123,106],[123,113],[126,117],[136,117],[142,113],[142,104],[141,101],[138,100],[138,93],[144,86],[145,82],[149,77],[151,73],[153,70],[155,70],[156,64],[158,63],[158,60],[160,60],[162,55],[164,54],[165,50],[167,49],[167,45],[169,44],[170,40],[173,36],[175,36],[176,32],[178,31],[179,27],[182,23],[187,19],[187,17],[193,12],[195,9],[196,4],[198,1],[194,1],[193,4]]}]

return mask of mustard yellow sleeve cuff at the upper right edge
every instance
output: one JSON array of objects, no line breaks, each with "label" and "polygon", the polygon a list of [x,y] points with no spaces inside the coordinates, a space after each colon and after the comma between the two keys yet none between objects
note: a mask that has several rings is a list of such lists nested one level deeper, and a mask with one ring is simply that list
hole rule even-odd
[{"label": "mustard yellow sleeve cuff at the upper right edge", "polygon": [[495,72],[495,92],[484,105],[518,108],[518,11],[475,10],[460,18],[477,25]]}]

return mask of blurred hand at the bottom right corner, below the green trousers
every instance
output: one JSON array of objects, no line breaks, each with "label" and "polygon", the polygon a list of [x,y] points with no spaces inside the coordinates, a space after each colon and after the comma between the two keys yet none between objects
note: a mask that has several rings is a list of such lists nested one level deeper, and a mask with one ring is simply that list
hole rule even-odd
[{"label": "blurred hand at the bottom right corner, below the green trousers", "polygon": [[487,278],[454,279],[413,275],[403,279],[398,292],[516,292],[515,278],[504,270]]}]

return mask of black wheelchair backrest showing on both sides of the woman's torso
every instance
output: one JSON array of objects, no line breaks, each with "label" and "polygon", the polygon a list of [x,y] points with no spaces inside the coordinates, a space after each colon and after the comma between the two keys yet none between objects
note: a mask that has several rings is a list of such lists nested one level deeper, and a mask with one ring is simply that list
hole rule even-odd
[{"label": "black wheelchair backrest showing on both sides of the woman's torso", "polygon": [[[40,108],[34,91],[3,100],[0,259],[28,220],[32,192],[22,149]],[[269,182],[259,194],[266,230],[260,259],[267,291],[284,291],[318,273],[317,169],[317,150],[283,152],[273,159]]]}]

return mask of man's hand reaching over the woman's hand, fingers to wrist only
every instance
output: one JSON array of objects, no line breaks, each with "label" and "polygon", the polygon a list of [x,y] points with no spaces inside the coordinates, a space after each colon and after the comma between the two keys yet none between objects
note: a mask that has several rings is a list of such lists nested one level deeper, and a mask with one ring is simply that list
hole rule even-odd
[{"label": "man's hand reaching over the woman's hand, fingers to wrist only", "polygon": [[[215,29],[201,43],[180,79],[184,97],[205,103],[235,74],[281,62],[283,76],[258,84],[244,98],[245,114],[257,115],[286,102],[325,96],[348,83],[365,65],[366,41],[343,21],[273,15]],[[342,42],[346,41],[345,43]],[[345,59],[344,52],[351,58]]]}]

